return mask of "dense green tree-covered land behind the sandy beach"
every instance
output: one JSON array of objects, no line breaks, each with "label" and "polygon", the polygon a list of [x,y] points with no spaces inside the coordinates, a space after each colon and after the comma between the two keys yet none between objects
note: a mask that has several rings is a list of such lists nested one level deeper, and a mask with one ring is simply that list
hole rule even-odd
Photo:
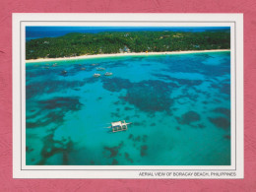
[{"label": "dense green tree-covered land behind the sandy beach", "polygon": [[228,48],[230,32],[72,32],[28,41],[26,58]]}]

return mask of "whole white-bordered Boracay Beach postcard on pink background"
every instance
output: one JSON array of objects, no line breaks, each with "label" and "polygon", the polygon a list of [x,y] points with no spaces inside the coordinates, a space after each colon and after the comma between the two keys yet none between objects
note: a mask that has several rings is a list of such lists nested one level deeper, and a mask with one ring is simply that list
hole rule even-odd
[{"label": "whole white-bordered Boracay Beach postcard on pink background", "polygon": [[243,178],[241,14],[13,14],[14,178]]}]

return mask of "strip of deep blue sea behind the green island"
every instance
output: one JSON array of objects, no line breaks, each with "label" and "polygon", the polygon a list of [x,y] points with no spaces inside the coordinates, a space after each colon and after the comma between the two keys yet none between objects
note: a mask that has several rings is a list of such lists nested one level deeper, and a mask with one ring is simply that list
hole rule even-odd
[{"label": "strip of deep blue sea behind the green island", "polygon": [[229,27],[26,27],[26,40],[42,37],[62,36],[69,32],[205,32],[229,31]]}]

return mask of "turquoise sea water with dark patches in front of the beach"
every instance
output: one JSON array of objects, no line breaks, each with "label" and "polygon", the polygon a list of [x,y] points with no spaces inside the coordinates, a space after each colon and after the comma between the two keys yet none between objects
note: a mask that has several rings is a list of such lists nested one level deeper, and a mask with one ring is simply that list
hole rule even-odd
[{"label": "turquoise sea water with dark patches in front of the beach", "polygon": [[26,96],[28,165],[230,164],[230,52],[27,63]]}]

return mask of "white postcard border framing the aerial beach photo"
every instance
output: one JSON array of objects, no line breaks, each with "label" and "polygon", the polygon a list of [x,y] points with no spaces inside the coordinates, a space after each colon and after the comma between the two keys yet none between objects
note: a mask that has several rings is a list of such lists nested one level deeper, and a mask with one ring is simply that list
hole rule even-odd
[{"label": "white postcard border framing the aerial beach photo", "polygon": [[[230,26],[231,108],[236,108],[235,111],[231,111],[231,165],[26,165],[24,147],[26,142],[25,27],[85,26],[85,24],[86,26],[151,27]],[[242,25],[243,17],[241,14],[13,14],[13,176],[15,178],[243,178]],[[235,126],[236,129],[234,129]],[[209,174],[196,174],[198,171],[200,173],[209,172]],[[158,172],[162,174],[155,174]],[[177,173],[176,176],[174,176],[174,172]],[[229,172],[230,175],[218,174],[220,172]]]}]

